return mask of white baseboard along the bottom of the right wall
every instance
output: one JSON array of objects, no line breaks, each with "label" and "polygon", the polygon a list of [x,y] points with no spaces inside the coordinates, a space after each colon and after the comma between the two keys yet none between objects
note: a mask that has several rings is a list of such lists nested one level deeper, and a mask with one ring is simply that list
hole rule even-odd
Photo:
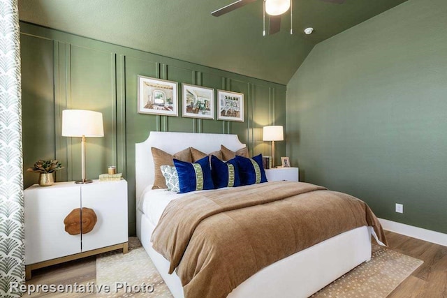
[{"label": "white baseboard along the bottom of the right wall", "polygon": [[413,225],[405,225],[404,223],[396,223],[383,218],[379,218],[379,221],[383,230],[447,246],[447,234],[414,227]]}]

